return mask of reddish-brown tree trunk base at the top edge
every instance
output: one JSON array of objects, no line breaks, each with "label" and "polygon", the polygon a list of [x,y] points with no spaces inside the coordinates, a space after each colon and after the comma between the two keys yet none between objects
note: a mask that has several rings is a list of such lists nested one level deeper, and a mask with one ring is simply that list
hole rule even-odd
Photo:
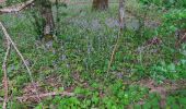
[{"label": "reddish-brown tree trunk base at the top edge", "polygon": [[108,0],[93,0],[93,10],[106,10],[108,9]]}]

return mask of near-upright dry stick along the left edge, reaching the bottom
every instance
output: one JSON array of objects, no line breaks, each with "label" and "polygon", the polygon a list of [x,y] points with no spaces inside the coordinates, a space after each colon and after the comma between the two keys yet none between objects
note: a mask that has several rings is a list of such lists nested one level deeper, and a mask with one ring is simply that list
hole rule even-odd
[{"label": "near-upright dry stick along the left edge, reaching the bottom", "polygon": [[7,40],[7,52],[5,52],[3,64],[2,64],[2,70],[4,74],[3,81],[2,81],[3,88],[4,88],[4,99],[3,99],[3,106],[2,106],[3,109],[7,109],[7,102],[8,102],[9,83],[8,83],[8,74],[7,74],[7,62],[8,62],[8,58],[9,58],[10,49],[11,49],[11,44],[9,39],[7,38],[5,40]]}]

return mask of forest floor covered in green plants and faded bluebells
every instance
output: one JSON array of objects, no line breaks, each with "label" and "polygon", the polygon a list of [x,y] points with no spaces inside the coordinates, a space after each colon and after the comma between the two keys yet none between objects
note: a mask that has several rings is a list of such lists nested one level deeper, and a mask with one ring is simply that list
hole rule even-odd
[{"label": "forest floor covered in green plants and faded bluebells", "polygon": [[[35,39],[38,36],[31,11],[0,16],[26,59],[37,88],[12,49],[9,109],[186,108],[186,47],[176,48],[173,35],[159,33],[165,28],[163,15],[170,10],[147,10],[129,0],[126,29],[109,70],[119,33],[118,4],[111,3],[103,12],[92,12],[91,3],[72,3],[59,10],[59,35],[51,48]],[[0,60],[5,52],[2,37],[0,33]],[[0,84],[0,104],[3,95]]]}]

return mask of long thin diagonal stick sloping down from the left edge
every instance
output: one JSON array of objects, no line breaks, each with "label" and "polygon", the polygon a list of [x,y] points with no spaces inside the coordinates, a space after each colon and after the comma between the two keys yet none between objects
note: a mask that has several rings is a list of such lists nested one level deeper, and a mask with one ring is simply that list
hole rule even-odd
[{"label": "long thin diagonal stick sloping down from the left edge", "polygon": [[[21,60],[23,61],[24,65],[26,66],[26,70],[27,70],[27,72],[28,72],[28,74],[30,74],[31,82],[32,82],[32,84],[33,84],[33,86],[34,86],[34,88],[35,88],[36,95],[38,95],[37,87],[36,87],[36,85],[34,84],[34,78],[33,78],[33,76],[32,76],[32,72],[31,72],[30,68],[27,66],[24,57],[22,56],[22,53],[20,52],[20,50],[18,49],[18,47],[15,46],[15,44],[13,43],[13,40],[11,39],[11,37],[9,36],[5,27],[2,25],[1,22],[0,22],[0,26],[2,27],[2,31],[3,31],[4,35],[5,35],[5,37],[7,37],[8,40],[11,43],[11,45],[13,46],[13,48],[15,49],[15,51],[18,52],[18,55],[20,56]],[[38,96],[38,100],[40,100],[39,96]]]}]

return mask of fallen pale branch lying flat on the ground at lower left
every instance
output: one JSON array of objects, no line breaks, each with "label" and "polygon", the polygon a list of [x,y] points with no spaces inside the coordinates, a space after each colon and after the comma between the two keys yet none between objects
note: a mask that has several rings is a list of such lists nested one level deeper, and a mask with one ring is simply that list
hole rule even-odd
[{"label": "fallen pale branch lying flat on the ground at lower left", "polygon": [[44,98],[44,97],[49,97],[49,96],[74,96],[73,93],[68,93],[68,92],[62,92],[62,93],[57,93],[57,92],[50,92],[50,93],[45,93],[45,94],[38,94],[38,95],[25,95],[23,97],[16,97],[19,101],[26,101],[27,99],[33,99],[33,98]]}]

